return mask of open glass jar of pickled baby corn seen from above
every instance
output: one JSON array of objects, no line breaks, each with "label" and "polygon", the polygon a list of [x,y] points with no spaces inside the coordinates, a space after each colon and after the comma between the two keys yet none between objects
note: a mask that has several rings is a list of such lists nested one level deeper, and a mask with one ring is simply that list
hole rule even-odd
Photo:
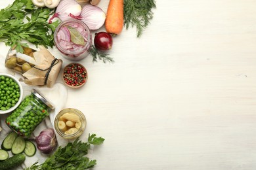
[{"label": "open glass jar of pickled baby corn seen from above", "polygon": [[54,120],[56,132],[64,139],[79,137],[85,130],[86,124],[83,112],[72,108],[61,110]]}]

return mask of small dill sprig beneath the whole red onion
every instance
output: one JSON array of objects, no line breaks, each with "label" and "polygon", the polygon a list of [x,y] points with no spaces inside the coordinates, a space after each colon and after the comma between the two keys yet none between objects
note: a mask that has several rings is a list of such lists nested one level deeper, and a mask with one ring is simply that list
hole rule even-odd
[{"label": "small dill sprig beneath the whole red onion", "polygon": [[109,54],[106,54],[104,52],[99,52],[94,45],[90,48],[90,54],[93,56],[93,62],[98,61],[98,59],[102,60],[103,63],[106,63],[107,61],[109,63],[114,63],[114,59],[109,56]]}]

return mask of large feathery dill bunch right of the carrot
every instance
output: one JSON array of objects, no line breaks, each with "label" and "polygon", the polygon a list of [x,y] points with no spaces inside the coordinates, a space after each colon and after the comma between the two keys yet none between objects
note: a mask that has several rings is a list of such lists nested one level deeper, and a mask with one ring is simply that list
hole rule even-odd
[{"label": "large feathery dill bunch right of the carrot", "polygon": [[124,0],[123,6],[124,25],[126,29],[135,26],[139,38],[153,18],[152,9],[156,8],[156,2],[154,0]]}]

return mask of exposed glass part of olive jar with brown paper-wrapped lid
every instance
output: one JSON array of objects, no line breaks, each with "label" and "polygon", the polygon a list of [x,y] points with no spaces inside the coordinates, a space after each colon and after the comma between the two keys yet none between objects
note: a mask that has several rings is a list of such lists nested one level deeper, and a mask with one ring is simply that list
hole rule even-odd
[{"label": "exposed glass part of olive jar with brown paper-wrapped lid", "polygon": [[12,69],[20,74],[26,73],[26,71],[32,69],[36,64],[33,57],[33,50],[30,47],[22,46],[23,53],[16,51],[16,46],[10,48],[7,57],[5,58],[5,67]]}]

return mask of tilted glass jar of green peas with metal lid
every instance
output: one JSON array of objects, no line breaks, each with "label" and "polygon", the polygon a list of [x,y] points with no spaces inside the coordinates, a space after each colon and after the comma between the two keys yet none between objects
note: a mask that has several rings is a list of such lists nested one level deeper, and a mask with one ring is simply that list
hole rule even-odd
[{"label": "tilted glass jar of green peas with metal lid", "polygon": [[18,135],[28,138],[44,119],[49,116],[49,111],[54,106],[35,89],[27,95],[20,105],[11,112],[6,119],[6,124]]}]

